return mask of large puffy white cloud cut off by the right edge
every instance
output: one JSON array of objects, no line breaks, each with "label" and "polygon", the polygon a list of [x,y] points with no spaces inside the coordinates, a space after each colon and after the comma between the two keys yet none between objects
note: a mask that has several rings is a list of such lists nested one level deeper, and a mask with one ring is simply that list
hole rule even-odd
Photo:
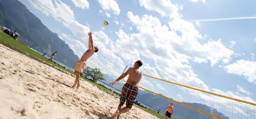
[{"label": "large puffy white cloud cut off by the right edge", "polygon": [[256,62],[238,60],[233,64],[223,67],[227,73],[243,75],[250,83],[256,84]]}]

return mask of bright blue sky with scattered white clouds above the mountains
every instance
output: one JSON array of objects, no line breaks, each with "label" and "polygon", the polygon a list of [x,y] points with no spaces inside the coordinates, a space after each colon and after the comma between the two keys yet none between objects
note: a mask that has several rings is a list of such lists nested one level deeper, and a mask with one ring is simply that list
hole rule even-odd
[{"label": "bright blue sky with scattered white clouds above the mountains", "polygon": [[105,74],[140,59],[144,74],[256,103],[256,1],[20,2],[79,57],[91,31],[99,52],[87,65]]}]

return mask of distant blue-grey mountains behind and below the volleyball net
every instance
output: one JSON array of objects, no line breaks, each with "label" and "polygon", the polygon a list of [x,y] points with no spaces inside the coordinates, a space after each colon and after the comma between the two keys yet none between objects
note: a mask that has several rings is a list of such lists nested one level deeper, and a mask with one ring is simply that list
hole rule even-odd
[{"label": "distant blue-grey mountains behind and below the volleyball net", "polygon": [[[103,74],[103,77],[104,77],[104,79],[106,79],[106,81],[102,81],[102,82],[104,82],[106,84],[109,84],[111,81],[117,79],[117,77],[115,77],[113,75],[108,75],[108,74]],[[121,90],[123,85],[124,85],[124,83],[119,83],[116,89]],[[112,86],[112,87],[114,87],[114,86]],[[160,95],[162,95],[162,94],[160,94]],[[145,90],[140,90],[140,89],[138,90],[138,95],[136,97],[136,100],[144,103],[145,105],[147,105],[150,108],[153,108],[155,110],[161,109],[160,111],[163,111],[163,109],[165,109],[166,106],[170,105],[170,103],[171,103],[170,100],[167,100],[158,95],[151,94]],[[172,102],[172,103],[173,103],[173,107],[174,107],[174,113],[173,113],[172,117],[174,117],[174,118],[177,118],[177,119],[192,119],[192,118],[214,119],[213,117],[211,117],[209,115],[200,113],[200,112],[190,109],[188,107],[182,106],[178,103],[175,103],[175,102]],[[218,112],[216,109],[214,109],[210,106],[206,106],[206,105],[200,104],[200,103],[188,103],[188,102],[181,102],[181,103],[189,105],[189,106],[193,106],[197,109],[212,110],[212,113],[214,115],[222,115],[221,116],[222,118],[229,119],[229,117]]]}]

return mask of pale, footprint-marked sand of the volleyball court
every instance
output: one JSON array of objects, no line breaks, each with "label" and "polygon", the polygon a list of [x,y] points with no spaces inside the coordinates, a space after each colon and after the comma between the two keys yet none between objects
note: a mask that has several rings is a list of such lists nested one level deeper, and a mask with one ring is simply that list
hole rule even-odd
[{"label": "pale, footprint-marked sand of the volleyball court", "polygon": [[[0,118],[107,119],[119,98],[0,44]],[[136,106],[122,119],[156,119]]]}]

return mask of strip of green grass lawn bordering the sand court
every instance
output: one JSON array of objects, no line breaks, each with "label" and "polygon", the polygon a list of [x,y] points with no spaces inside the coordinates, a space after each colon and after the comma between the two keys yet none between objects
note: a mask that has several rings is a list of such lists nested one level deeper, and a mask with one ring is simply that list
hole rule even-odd
[{"label": "strip of green grass lawn bordering the sand court", "polygon": [[[25,55],[27,55],[27,56],[35,59],[35,60],[38,60],[39,62],[45,63],[45,64],[47,64],[47,65],[49,65],[51,67],[54,67],[54,68],[56,68],[57,70],[59,70],[61,72],[64,72],[64,73],[66,73],[68,75],[71,75],[71,76],[75,77],[74,73],[72,71],[70,71],[68,69],[65,69],[64,67],[61,67],[61,66],[57,65],[56,63],[47,61],[47,58],[44,58],[42,55],[38,54],[34,50],[32,50],[29,47],[27,47],[27,45],[23,44],[21,41],[15,40],[14,38],[12,38],[11,36],[7,35],[3,31],[0,33],[0,43],[6,45],[6,46],[8,46],[8,47],[10,47],[10,48],[12,48],[12,49],[14,49],[16,51],[18,51],[18,52],[21,52],[21,53],[23,53],[23,54],[25,54]],[[103,86],[100,86],[99,84],[97,84],[97,83],[95,83],[95,82],[93,82],[93,81],[91,81],[89,79],[86,79],[86,78],[84,78],[82,76],[80,76],[80,78],[84,79],[85,81],[88,81],[88,82],[94,84],[95,86],[97,86],[101,90],[104,90],[104,91],[109,92],[109,93],[111,92],[109,89],[104,88]],[[117,94],[115,94],[115,95],[120,97]],[[164,118],[163,115],[161,115],[159,113],[156,113],[155,111],[152,111],[150,109],[146,109],[146,108],[138,106],[136,104],[134,104],[134,106],[137,106],[137,107],[139,107],[139,108],[141,108],[141,109],[143,109],[143,110],[145,110],[145,111],[147,111],[147,112],[149,112],[149,113],[151,113],[153,115],[156,115],[158,117]]]}]

